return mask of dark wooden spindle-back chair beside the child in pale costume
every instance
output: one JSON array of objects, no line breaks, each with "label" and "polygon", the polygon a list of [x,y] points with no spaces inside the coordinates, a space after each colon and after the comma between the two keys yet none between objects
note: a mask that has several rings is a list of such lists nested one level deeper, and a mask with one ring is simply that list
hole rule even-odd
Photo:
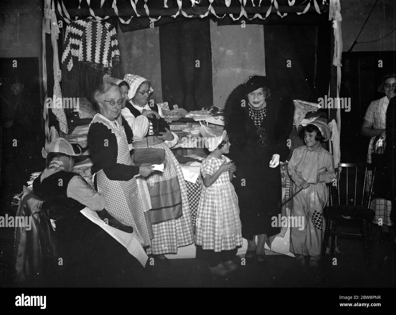
[{"label": "dark wooden spindle-back chair beside the child in pale costume", "polygon": [[[348,235],[353,237],[362,237],[364,241],[364,254],[366,264],[370,262],[370,246],[371,246],[371,229],[370,221],[374,216],[374,211],[369,209],[371,201],[372,187],[375,177],[375,167],[369,163],[339,163],[339,167],[343,167],[340,174],[338,168],[337,173],[337,190],[338,204],[333,205],[333,198],[330,187],[329,206],[323,210],[323,215],[327,218],[326,230],[324,233],[324,241],[322,246],[322,259],[326,255],[327,242],[331,236],[331,256],[334,255],[335,236]],[[369,192],[366,192],[366,175],[367,170],[373,170],[373,177]],[[354,170],[354,171],[353,171]],[[352,177],[351,177],[352,176]],[[364,176],[364,178],[362,178]],[[361,178],[358,180],[358,178]],[[352,182],[352,184],[351,184]],[[363,185],[361,183],[363,182]],[[334,186],[333,186],[334,187]],[[358,199],[361,195],[360,200]],[[360,223],[360,233],[350,232],[350,227],[343,226],[342,230],[337,229],[339,222],[355,221]]]}]

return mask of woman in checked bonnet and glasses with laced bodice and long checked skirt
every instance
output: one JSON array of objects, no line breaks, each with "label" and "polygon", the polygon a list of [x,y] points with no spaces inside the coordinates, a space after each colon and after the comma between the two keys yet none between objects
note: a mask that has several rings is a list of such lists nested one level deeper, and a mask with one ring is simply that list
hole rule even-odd
[{"label": "woman in checked bonnet and glasses with laced bodice and long checked skirt", "polygon": [[[156,104],[148,104],[153,92],[150,81],[133,74],[126,74],[129,84],[126,108],[121,113],[134,124],[140,116],[148,119],[149,127],[141,141],[133,141],[134,150],[139,148],[163,148],[167,164],[164,172],[155,172],[146,177],[152,209],[150,211],[154,238],[147,253],[165,262],[166,253],[176,253],[177,247],[193,243],[190,207],[187,186],[183,172],[175,156],[169,150],[177,143],[177,136],[166,128],[166,132],[155,135],[153,120],[162,117],[162,110]],[[133,116],[133,117],[131,117]],[[135,121],[134,121],[135,120]]]}]

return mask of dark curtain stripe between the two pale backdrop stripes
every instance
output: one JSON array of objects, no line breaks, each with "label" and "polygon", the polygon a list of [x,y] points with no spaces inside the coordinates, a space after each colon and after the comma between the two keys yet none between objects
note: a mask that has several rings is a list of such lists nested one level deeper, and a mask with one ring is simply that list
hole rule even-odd
[{"label": "dark curtain stripe between the two pale backdrop stripes", "polygon": [[209,19],[160,26],[160,55],[164,101],[188,111],[213,105]]}]

